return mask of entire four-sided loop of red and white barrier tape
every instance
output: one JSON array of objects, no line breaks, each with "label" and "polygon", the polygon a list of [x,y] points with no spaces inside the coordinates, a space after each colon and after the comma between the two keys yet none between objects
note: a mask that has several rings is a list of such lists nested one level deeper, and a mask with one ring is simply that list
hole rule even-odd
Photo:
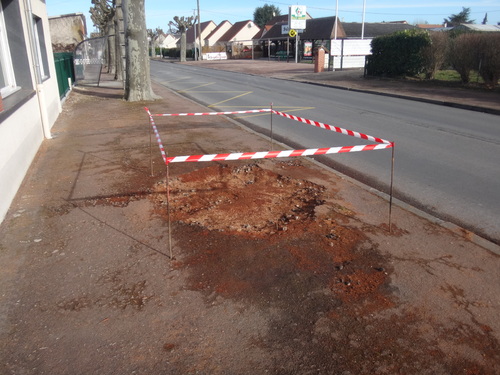
[{"label": "entire four-sided loop of red and white barrier tape", "polygon": [[[151,114],[148,108],[144,108],[149,115],[149,121],[153,127],[156,141],[160,147],[160,152],[165,164],[169,163],[184,163],[184,162],[201,162],[201,161],[223,161],[223,160],[248,160],[248,159],[271,159],[271,158],[287,158],[294,156],[314,156],[314,155],[327,155],[327,154],[339,154],[345,152],[359,152],[359,151],[374,151],[383,150],[387,148],[394,147],[393,142],[386,141],[382,138],[372,137],[371,135],[366,135],[363,133],[354,132],[352,130],[347,130],[339,128],[337,126],[332,126],[328,124],[323,124],[322,122],[312,121],[304,119],[302,117],[289,115],[287,113],[278,112],[272,109],[257,109],[251,111],[234,111],[234,112],[208,112],[208,113],[177,113],[177,114]],[[324,147],[324,148],[310,148],[305,150],[284,150],[284,151],[260,151],[260,152],[236,152],[231,154],[212,154],[212,155],[188,155],[188,156],[172,156],[167,157],[163,144],[161,142],[160,134],[154,122],[153,116],[203,116],[203,115],[226,115],[226,114],[236,114],[236,113],[262,113],[262,112],[272,112],[277,115],[289,118],[291,120],[299,121],[308,125],[313,125],[320,127],[322,129],[335,131],[337,133],[350,135],[356,138],[366,139],[372,142],[377,142],[377,144],[372,145],[357,145],[357,146],[342,146],[342,147]]]}]

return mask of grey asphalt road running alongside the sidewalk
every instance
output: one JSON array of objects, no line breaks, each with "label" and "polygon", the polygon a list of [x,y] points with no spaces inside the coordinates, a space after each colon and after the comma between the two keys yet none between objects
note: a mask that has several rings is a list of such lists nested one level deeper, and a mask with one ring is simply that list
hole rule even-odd
[{"label": "grey asphalt road running alongside the sidewalk", "polygon": [[[151,62],[151,76],[214,111],[269,108],[272,103],[279,111],[394,141],[397,198],[500,243],[498,116],[155,61]],[[238,120],[269,133],[269,114],[240,115]],[[273,116],[272,126],[276,139],[292,147],[367,143],[279,116]],[[388,191],[389,150],[335,154],[322,161]]]}]

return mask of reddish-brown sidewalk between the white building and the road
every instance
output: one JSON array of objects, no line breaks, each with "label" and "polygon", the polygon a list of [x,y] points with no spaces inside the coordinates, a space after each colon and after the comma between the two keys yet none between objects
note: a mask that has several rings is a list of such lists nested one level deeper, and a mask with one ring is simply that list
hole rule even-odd
[{"label": "reddish-brown sidewalk between the white building and the road", "polygon": [[[167,198],[143,107],[206,109],[154,90],[64,104],[0,225],[1,374],[500,372],[500,257],[473,234],[398,206],[389,233],[386,199],[308,158],[172,164]],[[156,125],[172,156],[269,148],[227,117]]]}]

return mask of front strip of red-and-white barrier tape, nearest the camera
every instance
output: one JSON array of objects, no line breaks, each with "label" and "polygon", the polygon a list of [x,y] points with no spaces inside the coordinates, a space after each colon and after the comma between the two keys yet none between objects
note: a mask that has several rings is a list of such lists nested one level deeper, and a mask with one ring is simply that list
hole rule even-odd
[{"label": "front strip of red-and-white barrier tape, nearest the camera", "polygon": [[306,150],[285,150],[285,151],[261,151],[261,152],[236,152],[233,154],[213,154],[213,155],[189,155],[172,156],[167,158],[168,163],[184,163],[198,161],[223,161],[223,160],[245,160],[245,159],[271,159],[288,158],[293,156],[313,156],[326,154],[339,154],[344,152],[373,151],[393,147],[392,143],[381,143],[373,145],[343,146],[310,148]]}]

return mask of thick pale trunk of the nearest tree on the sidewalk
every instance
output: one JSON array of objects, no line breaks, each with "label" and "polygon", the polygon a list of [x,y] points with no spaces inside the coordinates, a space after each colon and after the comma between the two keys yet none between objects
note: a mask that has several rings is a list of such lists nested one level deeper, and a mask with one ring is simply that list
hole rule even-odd
[{"label": "thick pale trunk of the nearest tree on the sidewalk", "polygon": [[125,100],[137,102],[155,100],[151,87],[146,33],[145,0],[123,0],[125,19]]}]

